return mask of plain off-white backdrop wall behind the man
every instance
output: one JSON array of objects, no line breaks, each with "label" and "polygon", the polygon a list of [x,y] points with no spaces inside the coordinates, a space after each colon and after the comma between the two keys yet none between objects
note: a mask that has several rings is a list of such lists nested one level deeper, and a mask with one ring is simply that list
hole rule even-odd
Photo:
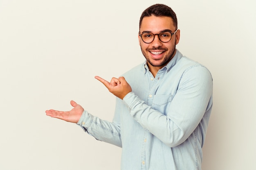
[{"label": "plain off-white backdrop wall behind the man", "polygon": [[144,61],[139,17],[177,14],[177,49],[213,75],[204,170],[255,170],[256,3],[253,0],[0,0],[0,169],[119,170],[121,148],[50,118],[75,100],[112,120],[110,80]]}]

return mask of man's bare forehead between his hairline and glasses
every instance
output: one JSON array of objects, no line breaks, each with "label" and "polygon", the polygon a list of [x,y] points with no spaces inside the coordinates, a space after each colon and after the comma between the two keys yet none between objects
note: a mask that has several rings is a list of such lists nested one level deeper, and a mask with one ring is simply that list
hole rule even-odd
[{"label": "man's bare forehead between his hairline and glasses", "polygon": [[173,25],[173,20],[171,17],[157,17],[152,15],[150,17],[144,17],[141,21],[140,32],[159,32],[165,29],[175,31],[175,26]]}]

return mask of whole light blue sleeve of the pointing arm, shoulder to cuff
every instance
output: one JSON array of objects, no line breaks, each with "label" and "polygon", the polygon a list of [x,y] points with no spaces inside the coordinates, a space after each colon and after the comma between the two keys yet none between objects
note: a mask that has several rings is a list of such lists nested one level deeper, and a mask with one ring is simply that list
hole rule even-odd
[{"label": "whole light blue sleeve of the pointing arm, shoulder to cuff", "polygon": [[167,146],[175,147],[191,135],[204,114],[211,110],[212,90],[210,72],[202,66],[196,66],[183,73],[167,113],[148,106],[133,92],[127,94],[123,101],[131,116],[144,129]]}]

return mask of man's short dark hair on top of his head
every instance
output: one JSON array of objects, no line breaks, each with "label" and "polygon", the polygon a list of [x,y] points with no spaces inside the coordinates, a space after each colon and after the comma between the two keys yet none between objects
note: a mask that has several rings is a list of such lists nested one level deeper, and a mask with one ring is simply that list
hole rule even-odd
[{"label": "man's short dark hair on top of his head", "polygon": [[143,11],[139,20],[139,28],[141,27],[141,22],[144,17],[150,17],[151,15],[155,15],[156,17],[166,16],[171,17],[173,19],[173,25],[175,29],[178,27],[177,17],[175,12],[168,6],[164,4],[155,4]]}]

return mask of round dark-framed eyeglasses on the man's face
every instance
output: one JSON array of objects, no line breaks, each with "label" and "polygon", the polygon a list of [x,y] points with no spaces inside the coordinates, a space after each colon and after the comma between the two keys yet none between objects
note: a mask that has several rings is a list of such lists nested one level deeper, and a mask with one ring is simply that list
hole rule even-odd
[{"label": "round dark-framed eyeglasses on the man's face", "polygon": [[152,43],[155,39],[155,35],[158,35],[158,38],[160,41],[166,43],[168,41],[171,40],[173,34],[175,34],[178,30],[176,30],[174,33],[171,33],[170,31],[163,31],[159,34],[153,34],[153,33],[142,33],[140,34],[139,32],[139,36],[141,37],[142,41],[144,43]]}]

